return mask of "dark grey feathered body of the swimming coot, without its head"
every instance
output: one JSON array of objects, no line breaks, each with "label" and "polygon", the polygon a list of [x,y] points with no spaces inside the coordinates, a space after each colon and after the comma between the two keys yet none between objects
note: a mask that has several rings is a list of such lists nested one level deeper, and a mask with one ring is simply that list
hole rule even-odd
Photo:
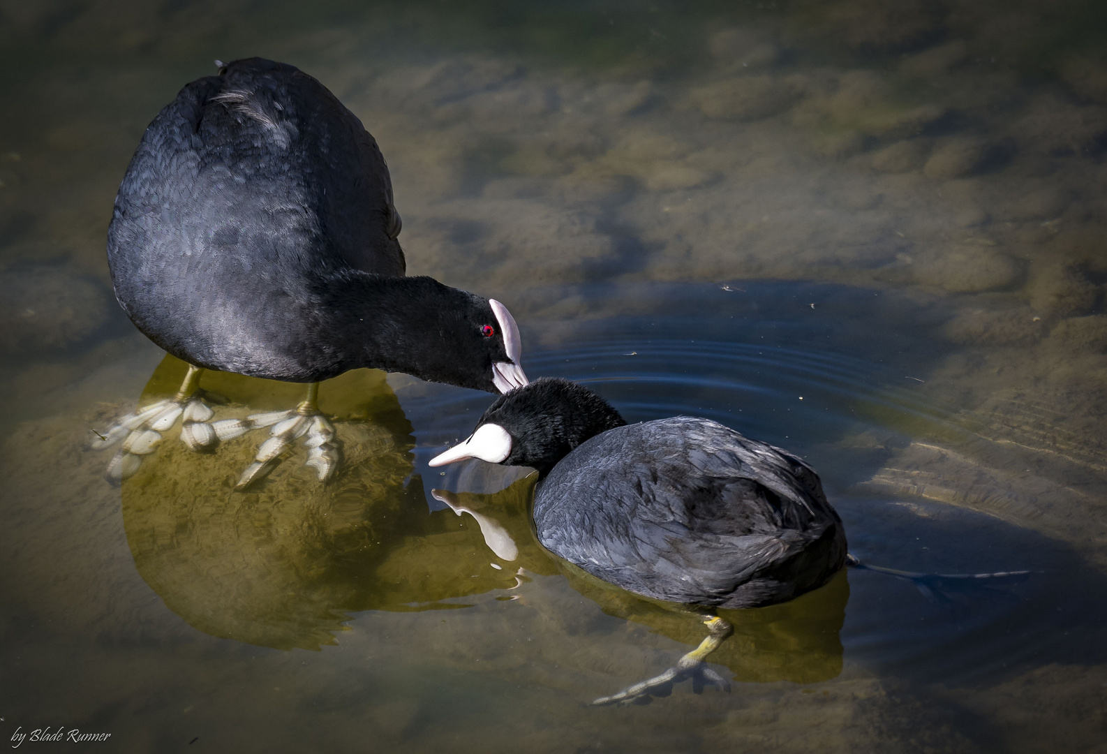
[{"label": "dark grey feathered body of the swimming coot, without its head", "polygon": [[838,523],[805,463],[687,417],[584,443],[544,482],[535,516],[542,545],[594,576],[700,603],[726,602]]}]

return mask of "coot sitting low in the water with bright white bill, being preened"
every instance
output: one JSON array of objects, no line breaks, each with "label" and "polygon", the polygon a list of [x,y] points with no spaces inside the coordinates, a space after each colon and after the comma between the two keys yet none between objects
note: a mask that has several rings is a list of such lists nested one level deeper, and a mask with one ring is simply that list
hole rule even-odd
[{"label": "coot sitting low in the water with bright white bill, being preened", "polygon": [[783,602],[846,564],[841,519],[787,451],[706,419],[628,425],[592,391],[540,379],[498,397],[464,443],[431,461],[532,466],[538,540],[610,583],[708,612],[707,639],[672,669],[597,703],[641,700],[731,632],[710,611]]}]

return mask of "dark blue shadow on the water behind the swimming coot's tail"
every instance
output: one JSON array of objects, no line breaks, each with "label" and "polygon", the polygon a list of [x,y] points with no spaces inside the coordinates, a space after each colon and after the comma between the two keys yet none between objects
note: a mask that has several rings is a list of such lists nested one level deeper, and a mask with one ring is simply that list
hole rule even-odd
[{"label": "dark blue shadow on the water behind the swimming coot's tail", "polygon": [[842,643],[881,675],[956,685],[1107,661],[1107,579],[1067,544],[922,499],[851,497],[838,510],[865,562],[935,575],[1032,571],[925,581],[851,571]]}]

